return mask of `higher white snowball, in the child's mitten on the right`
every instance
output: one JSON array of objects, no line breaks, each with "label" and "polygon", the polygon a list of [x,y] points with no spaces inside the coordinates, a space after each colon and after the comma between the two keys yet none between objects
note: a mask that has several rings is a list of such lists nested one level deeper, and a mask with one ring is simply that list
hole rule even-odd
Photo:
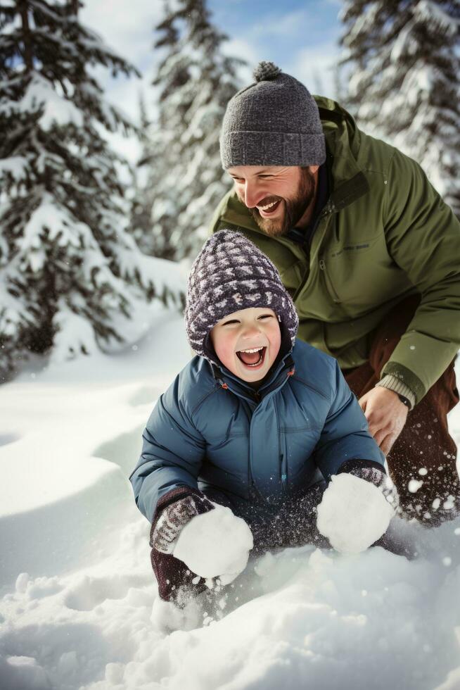
[{"label": "higher white snowball, in the child's mitten on the right", "polygon": [[370,463],[350,463],[331,477],[317,527],[337,551],[359,553],[385,534],[396,508],[396,489],[385,472]]}]

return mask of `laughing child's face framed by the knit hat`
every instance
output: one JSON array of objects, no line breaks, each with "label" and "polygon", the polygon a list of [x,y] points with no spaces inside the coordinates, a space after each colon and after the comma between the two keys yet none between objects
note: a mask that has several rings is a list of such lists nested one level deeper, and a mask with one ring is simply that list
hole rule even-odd
[{"label": "laughing child's face framed by the knit hat", "polygon": [[243,381],[260,381],[279,353],[279,321],[272,309],[241,309],[215,325],[211,341],[217,357],[232,374]]}]

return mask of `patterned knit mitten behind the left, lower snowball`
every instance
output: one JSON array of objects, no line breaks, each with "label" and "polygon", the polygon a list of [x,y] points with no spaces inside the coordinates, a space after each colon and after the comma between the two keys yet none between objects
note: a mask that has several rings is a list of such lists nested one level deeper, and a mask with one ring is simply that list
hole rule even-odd
[{"label": "patterned knit mitten behind the left, lower snowball", "polygon": [[189,494],[162,510],[151,534],[150,545],[161,553],[172,553],[181,530],[193,517],[214,510],[205,496]]}]

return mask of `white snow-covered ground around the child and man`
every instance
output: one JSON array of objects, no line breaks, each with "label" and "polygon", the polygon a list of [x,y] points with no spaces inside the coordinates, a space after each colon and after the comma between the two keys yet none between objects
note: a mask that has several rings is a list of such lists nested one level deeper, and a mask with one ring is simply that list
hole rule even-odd
[{"label": "white snow-covered ground around the child and man", "polygon": [[[397,525],[410,561],[267,554],[220,617],[167,632],[127,477],[188,358],[181,318],[158,312],[124,353],[39,360],[0,388],[1,689],[458,690],[460,520]],[[460,410],[450,424],[460,439]]]}]

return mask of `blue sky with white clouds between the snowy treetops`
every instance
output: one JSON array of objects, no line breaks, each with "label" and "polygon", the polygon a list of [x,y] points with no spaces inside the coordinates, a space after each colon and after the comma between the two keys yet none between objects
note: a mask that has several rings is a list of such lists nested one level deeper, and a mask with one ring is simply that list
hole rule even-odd
[{"label": "blue sky with white clouds between the snowy treetops", "polygon": [[[208,0],[212,23],[228,35],[223,49],[248,61],[243,81],[251,81],[251,71],[260,60],[273,61],[284,72],[297,77],[313,93],[335,96],[331,66],[338,58],[341,32],[338,14],[341,0]],[[141,79],[113,79],[108,70],[97,77],[110,101],[135,121],[139,94],[154,112],[155,92],[151,80],[158,51],[153,49],[154,27],[163,17],[162,0],[86,0],[80,14],[83,23],[98,32],[104,41],[127,58],[141,72]],[[129,161],[136,160],[138,144],[122,134],[110,137],[113,145]]]}]

